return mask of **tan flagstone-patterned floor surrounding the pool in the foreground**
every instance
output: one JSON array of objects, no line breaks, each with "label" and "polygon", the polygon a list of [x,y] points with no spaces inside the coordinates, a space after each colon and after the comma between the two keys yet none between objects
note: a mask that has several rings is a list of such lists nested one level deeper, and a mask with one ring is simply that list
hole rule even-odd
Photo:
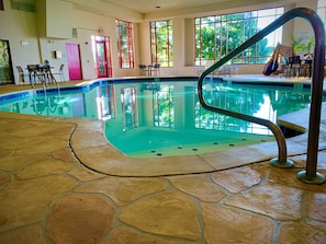
[{"label": "tan flagstone-patterned floor surrounding the pool in the foreground", "polygon": [[[318,172],[326,175],[322,124]],[[202,156],[233,166],[223,171],[191,161],[195,169],[184,172],[190,159],[172,159],[181,162],[173,175],[106,148],[101,130],[99,121],[0,113],[1,244],[326,243],[326,184],[296,179],[306,135],[289,140],[291,170],[270,165],[268,144],[260,148],[267,159],[246,165],[236,161],[252,162],[248,148]]]}]

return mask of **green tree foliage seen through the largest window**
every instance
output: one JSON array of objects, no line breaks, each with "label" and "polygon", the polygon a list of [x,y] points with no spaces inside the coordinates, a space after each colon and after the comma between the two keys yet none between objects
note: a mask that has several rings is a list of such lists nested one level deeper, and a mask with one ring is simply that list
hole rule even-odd
[{"label": "green tree foliage seen through the largest window", "polygon": [[[246,39],[255,35],[260,30],[256,19],[245,19],[249,13],[236,13],[228,15],[228,21],[215,22],[213,19],[205,19],[204,24],[195,25],[195,57],[203,60],[218,60],[229,51],[241,45]],[[246,63],[256,62],[255,57],[266,57],[261,62],[266,62],[273,47],[268,47],[268,39],[263,38],[241,55]],[[201,56],[201,57],[200,57]]]}]

